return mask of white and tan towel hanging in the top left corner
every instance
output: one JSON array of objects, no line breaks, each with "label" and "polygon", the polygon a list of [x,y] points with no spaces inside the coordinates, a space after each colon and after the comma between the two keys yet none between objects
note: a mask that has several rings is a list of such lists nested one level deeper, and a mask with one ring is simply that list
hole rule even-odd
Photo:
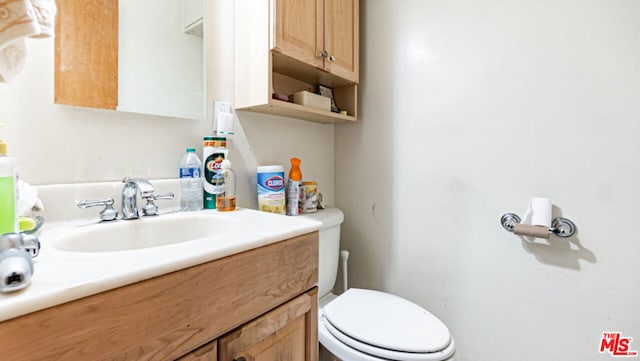
[{"label": "white and tan towel hanging in the top left corner", "polygon": [[55,0],[0,0],[0,81],[24,67],[27,37],[53,36],[55,14]]}]

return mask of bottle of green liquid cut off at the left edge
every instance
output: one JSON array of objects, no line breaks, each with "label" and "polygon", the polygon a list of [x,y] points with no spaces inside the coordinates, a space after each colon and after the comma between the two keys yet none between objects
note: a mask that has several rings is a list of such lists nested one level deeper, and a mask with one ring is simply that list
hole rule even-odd
[{"label": "bottle of green liquid cut off at the left edge", "polygon": [[7,156],[7,143],[0,139],[0,235],[18,231],[16,207],[16,160]]}]

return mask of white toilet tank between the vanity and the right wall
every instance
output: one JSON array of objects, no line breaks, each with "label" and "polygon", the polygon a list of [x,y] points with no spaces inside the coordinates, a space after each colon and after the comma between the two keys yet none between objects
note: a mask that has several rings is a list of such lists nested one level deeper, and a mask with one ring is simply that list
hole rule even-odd
[{"label": "white toilet tank between the vanity and the right wall", "polygon": [[318,243],[318,296],[322,298],[333,290],[336,283],[340,258],[340,226],[344,213],[338,208],[325,208],[299,217],[322,223]]}]

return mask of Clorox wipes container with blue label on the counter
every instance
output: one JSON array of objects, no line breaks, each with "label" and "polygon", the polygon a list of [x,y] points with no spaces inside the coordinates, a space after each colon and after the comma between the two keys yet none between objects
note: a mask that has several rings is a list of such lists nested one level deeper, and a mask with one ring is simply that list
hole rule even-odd
[{"label": "Clorox wipes container with blue label on the counter", "polygon": [[284,214],[284,168],[281,165],[258,167],[258,209]]}]

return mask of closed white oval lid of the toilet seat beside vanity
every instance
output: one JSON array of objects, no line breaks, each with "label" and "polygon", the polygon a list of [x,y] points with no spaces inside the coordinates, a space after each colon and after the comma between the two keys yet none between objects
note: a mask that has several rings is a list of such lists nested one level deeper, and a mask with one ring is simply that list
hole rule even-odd
[{"label": "closed white oval lid of the toilet seat beside vanity", "polygon": [[401,297],[351,288],[327,304],[325,319],[359,342],[398,352],[431,353],[447,348],[447,326]]}]

